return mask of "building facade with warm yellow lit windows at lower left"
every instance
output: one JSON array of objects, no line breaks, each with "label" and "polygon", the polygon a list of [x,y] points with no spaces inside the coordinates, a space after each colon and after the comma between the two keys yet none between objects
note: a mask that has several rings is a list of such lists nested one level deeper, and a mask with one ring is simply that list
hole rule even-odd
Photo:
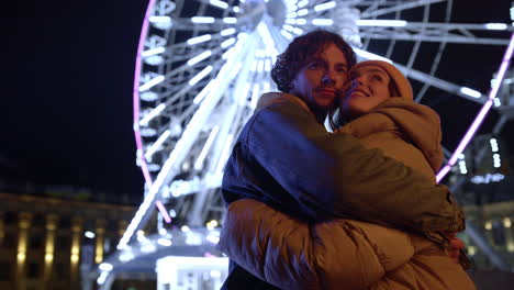
[{"label": "building facade with warm yellow lit windows at lower left", "polygon": [[81,276],[114,250],[133,213],[130,205],[0,192],[0,289],[82,289]]}]

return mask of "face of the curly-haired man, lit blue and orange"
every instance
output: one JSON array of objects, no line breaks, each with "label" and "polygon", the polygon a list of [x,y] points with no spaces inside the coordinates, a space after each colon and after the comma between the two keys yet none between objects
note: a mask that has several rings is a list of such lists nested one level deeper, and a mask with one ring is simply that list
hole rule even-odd
[{"label": "face of the curly-haired man, lit blue and orange", "polygon": [[290,93],[302,98],[311,109],[326,112],[343,90],[347,70],[345,55],[335,44],[329,44],[300,69]]}]

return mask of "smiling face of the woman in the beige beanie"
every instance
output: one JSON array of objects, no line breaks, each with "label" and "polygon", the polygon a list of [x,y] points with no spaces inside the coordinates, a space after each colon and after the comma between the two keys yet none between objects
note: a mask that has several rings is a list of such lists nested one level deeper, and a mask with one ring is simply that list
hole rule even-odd
[{"label": "smiling face of the woman in the beige beanie", "polygon": [[389,75],[378,66],[362,66],[350,72],[351,86],[343,94],[342,113],[349,118],[369,113],[391,97]]}]

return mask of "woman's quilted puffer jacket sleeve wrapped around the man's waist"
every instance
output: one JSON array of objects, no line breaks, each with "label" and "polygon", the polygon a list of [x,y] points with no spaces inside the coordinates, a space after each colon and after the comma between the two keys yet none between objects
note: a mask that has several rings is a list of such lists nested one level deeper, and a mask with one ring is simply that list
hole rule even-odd
[{"label": "woman's quilted puffer jacket sleeve wrapped around the man's waist", "polygon": [[365,289],[386,270],[367,235],[345,220],[306,224],[265,203],[231,203],[219,248],[281,289]]}]

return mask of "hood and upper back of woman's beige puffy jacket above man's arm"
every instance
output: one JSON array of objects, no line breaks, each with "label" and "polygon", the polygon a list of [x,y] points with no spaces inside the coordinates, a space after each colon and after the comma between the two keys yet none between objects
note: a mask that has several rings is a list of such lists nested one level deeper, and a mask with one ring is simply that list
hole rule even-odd
[{"label": "hood and upper back of woman's beige puffy jacket above man's arm", "polygon": [[391,98],[335,133],[359,138],[362,145],[378,148],[386,156],[402,161],[435,182],[435,172],[443,164],[440,121],[431,108]]}]

